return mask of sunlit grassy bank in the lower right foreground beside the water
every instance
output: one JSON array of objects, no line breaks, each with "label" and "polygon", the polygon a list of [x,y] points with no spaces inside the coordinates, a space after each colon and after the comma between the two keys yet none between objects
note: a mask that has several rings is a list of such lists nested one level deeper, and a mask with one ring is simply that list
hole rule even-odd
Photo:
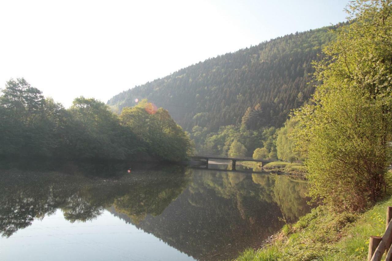
[{"label": "sunlit grassy bank in the lower right foreground beside the water", "polygon": [[385,212],[392,196],[362,214],[328,212],[314,208],[285,226],[263,249],[243,252],[237,260],[366,260],[370,236],[385,232]]}]

